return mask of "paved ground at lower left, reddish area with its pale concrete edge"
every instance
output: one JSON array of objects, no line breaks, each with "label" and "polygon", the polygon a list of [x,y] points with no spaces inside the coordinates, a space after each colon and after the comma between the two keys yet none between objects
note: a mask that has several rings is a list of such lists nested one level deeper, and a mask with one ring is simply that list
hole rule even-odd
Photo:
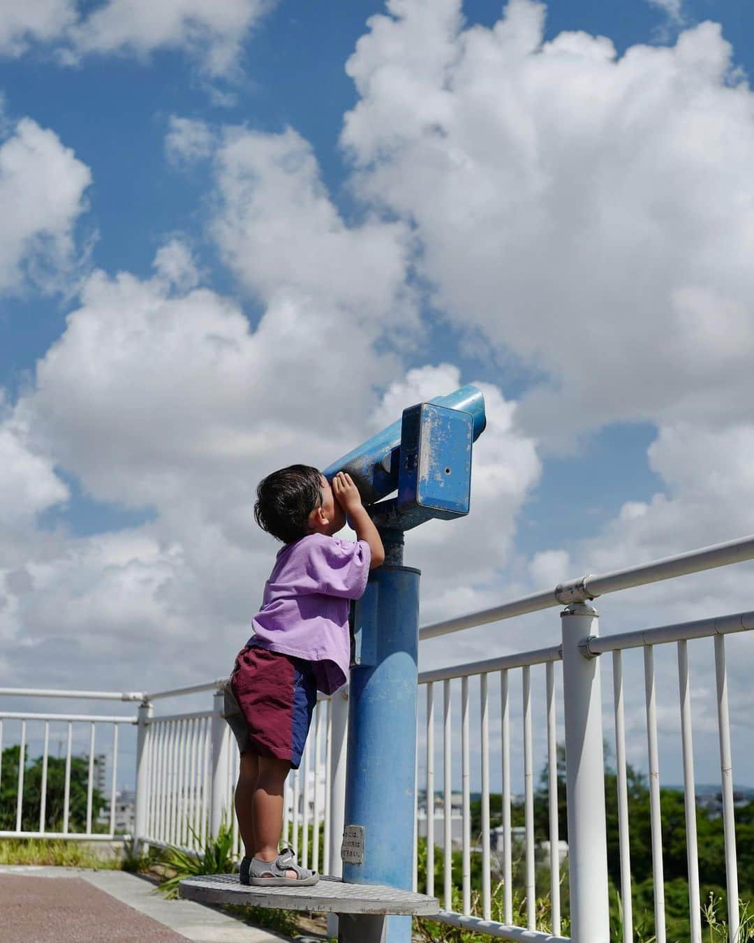
[{"label": "paved ground at lower left, reddish area with its pale concrete edge", "polygon": [[280,943],[125,871],[0,866],[0,943]]}]

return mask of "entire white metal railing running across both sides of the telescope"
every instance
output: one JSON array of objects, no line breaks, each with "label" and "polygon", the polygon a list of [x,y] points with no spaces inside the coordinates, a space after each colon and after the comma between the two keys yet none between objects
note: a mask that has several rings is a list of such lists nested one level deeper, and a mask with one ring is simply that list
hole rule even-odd
[{"label": "entire white metal railing running across both sides of the telescope", "polygon": [[[714,664],[717,689],[717,732],[721,765],[723,827],[728,883],[729,933],[735,937],[739,925],[737,859],[735,848],[732,792],[730,720],[727,692],[725,636],[754,628],[754,612],[738,613],[717,619],[698,620],[680,625],[642,629],[610,637],[598,637],[598,616],[589,602],[601,594],[640,586],[712,567],[727,566],[754,556],[754,538],[742,538],[716,547],[680,554],[655,563],[601,576],[584,576],[560,584],[553,590],[537,593],[483,612],[425,626],[421,638],[431,638],[461,631],[491,621],[503,620],[552,606],[564,606],[559,643],[528,653],[489,658],[446,669],[425,671],[419,675],[424,687],[425,723],[418,764],[424,767],[427,796],[427,886],[434,887],[435,845],[445,857],[442,901],[444,910],[438,919],[469,930],[505,939],[563,940],[561,914],[565,902],[560,899],[561,863],[558,842],[558,723],[565,731],[566,802],[568,811],[568,869],[570,873],[567,902],[571,938],[592,943],[607,938],[608,882],[604,813],[604,756],[602,746],[602,707],[600,697],[600,656],[611,653],[613,684],[613,724],[615,759],[623,938],[632,939],[631,857],[629,850],[630,802],[627,784],[626,721],[624,665],[622,653],[642,649],[644,653],[645,717],[647,733],[647,769],[650,799],[650,832],[654,869],[654,918],[658,943],[665,938],[663,846],[661,830],[660,744],[658,738],[658,686],[654,653],[658,646],[677,646],[680,709],[680,745],[685,792],[685,822],[689,874],[689,917],[691,938],[700,940],[699,877],[696,839],[695,778],[693,763],[692,687],[688,659],[688,641],[714,638]],[[696,644],[696,643],[695,643]],[[701,643],[699,643],[701,644]],[[562,670],[559,665],[562,663]],[[538,666],[543,666],[539,669]],[[543,677],[541,677],[543,676]],[[538,679],[543,681],[543,697],[533,695]],[[500,690],[500,736],[490,734],[490,683]],[[533,685],[534,682],[534,685]],[[75,723],[89,723],[88,822],[86,833],[71,837],[109,837],[91,833],[93,731],[95,724],[113,725],[113,759],[117,763],[117,730],[123,723],[137,724],[136,747],[136,828],[138,840],[152,844],[176,844],[196,850],[207,832],[216,834],[224,818],[234,822],[234,847],[238,849],[238,826],[232,809],[232,794],[237,774],[238,756],[230,731],[221,720],[221,681],[211,681],[171,691],[140,692],[63,692],[0,688],[0,695],[35,697],[92,697],[101,700],[139,701],[139,717],[103,717],[99,715],[0,715],[2,721],[20,723],[22,756],[26,742],[26,724],[41,722],[44,728],[42,756],[47,757],[49,724],[68,724],[69,735]],[[441,685],[442,697],[438,697]],[[513,696],[520,687],[520,702]],[[472,697],[473,689],[473,697]],[[201,691],[214,691],[211,710],[154,717],[154,703]],[[664,690],[660,692],[664,696]],[[440,707],[441,703],[441,707]],[[494,702],[492,702],[494,704]],[[520,703],[520,710],[516,704]],[[332,701],[322,701],[316,709],[312,733],[302,767],[289,778],[286,796],[284,837],[294,845],[304,865],[319,868],[320,849],[317,836],[320,821],[325,825],[326,840],[322,869],[336,872],[339,865],[339,836],[342,834],[342,805],[345,792],[344,757],[346,728],[341,694]],[[440,710],[442,716],[440,717]],[[472,715],[474,723],[472,725]],[[453,720],[459,719],[454,729]],[[477,722],[478,718],[478,722]],[[438,729],[439,728],[439,729]],[[512,736],[512,730],[519,736]],[[473,735],[472,735],[473,731]],[[439,736],[438,736],[439,735]],[[0,736],[2,734],[0,733]],[[539,739],[537,739],[539,737]],[[71,739],[69,736],[67,788],[70,787]],[[546,753],[548,795],[549,852],[547,854],[551,925],[537,931],[534,903],[537,894],[536,853],[533,829],[533,775],[535,745]],[[472,769],[472,747],[479,748],[478,769]],[[514,829],[512,827],[513,753],[520,754],[518,769],[522,783],[524,827],[522,893],[525,897],[526,926],[513,926],[514,907]],[[2,743],[0,742],[0,756]],[[443,827],[441,841],[435,840],[434,793],[439,779],[438,756],[442,768]],[[46,761],[43,759],[42,780]],[[453,811],[453,770],[460,769],[461,835],[461,911],[453,913],[451,852]],[[491,847],[490,770],[500,769],[501,849]],[[114,770],[113,770],[114,772]],[[24,763],[18,772],[18,796],[23,802]],[[2,776],[2,769],[0,769]],[[470,829],[470,794],[472,780],[481,786],[481,828],[478,851],[472,847]],[[115,783],[115,775],[112,775]],[[44,789],[42,788],[42,793]],[[324,795],[322,795],[324,793]],[[311,804],[310,804],[311,802]],[[40,834],[24,831],[22,812],[17,809],[17,828],[0,835]],[[41,826],[44,816],[41,816]],[[194,837],[189,829],[198,836]],[[312,839],[309,827],[312,827]],[[65,829],[61,834],[66,834]],[[57,833],[56,833],[57,835]],[[476,836],[475,836],[476,837]],[[471,914],[472,854],[482,861],[481,915]],[[491,919],[492,882],[502,879],[502,920]]]}]

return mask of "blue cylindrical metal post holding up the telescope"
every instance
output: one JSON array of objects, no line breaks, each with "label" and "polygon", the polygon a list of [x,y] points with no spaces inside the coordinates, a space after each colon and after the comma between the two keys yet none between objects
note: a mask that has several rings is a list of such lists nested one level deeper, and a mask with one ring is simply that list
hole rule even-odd
[{"label": "blue cylindrical metal post holding up the telescope", "polygon": [[[363,854],[359,838],[352,860],[343,862],[343,880],[411,890],[420,573],[402,566],[402,533],[385,530],[382,537],[385,565],[369,575],[355,610],[346,831],[363,829]],[[411,918],[353,917],[342,921],[340,939],[410,943]]]}]

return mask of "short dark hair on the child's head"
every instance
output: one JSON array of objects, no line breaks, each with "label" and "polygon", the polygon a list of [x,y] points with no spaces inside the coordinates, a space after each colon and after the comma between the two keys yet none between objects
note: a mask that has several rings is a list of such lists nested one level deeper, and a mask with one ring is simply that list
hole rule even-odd
[{"label": "short dark hair on the child's head", "polygon": [[293,543],[310,533],[308,517],[322,503],[322,473],[311,465],[289,465],[256,487],[254,519],[272,537]]}]

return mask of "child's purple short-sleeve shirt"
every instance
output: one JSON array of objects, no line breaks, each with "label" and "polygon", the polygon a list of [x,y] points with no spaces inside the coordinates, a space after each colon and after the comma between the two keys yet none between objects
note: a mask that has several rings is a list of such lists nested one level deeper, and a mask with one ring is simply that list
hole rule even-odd
[{"label": "child's purple short-sleeve shirt", "polygon": [[364,594],[370,559],[365,540],[310,534],[287,543],[275,558],[248,644],[312,662],[317,687],[332,694],[348,680],[349,602]]}]

